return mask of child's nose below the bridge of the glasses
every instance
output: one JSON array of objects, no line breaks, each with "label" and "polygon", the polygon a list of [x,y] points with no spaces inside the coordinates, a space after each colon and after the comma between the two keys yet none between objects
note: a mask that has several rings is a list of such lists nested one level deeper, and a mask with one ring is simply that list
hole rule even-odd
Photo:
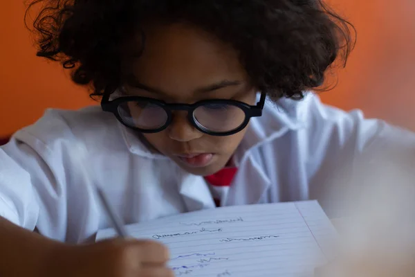
[{"label": "child's nose below the bridge of the glasses", "polygon": [[187,112],[185,111],[174,112],[173,121],[168,128],[168,134],[170,139],[181,142],[192,141],[203,136],[203,133],[187,120]]}]

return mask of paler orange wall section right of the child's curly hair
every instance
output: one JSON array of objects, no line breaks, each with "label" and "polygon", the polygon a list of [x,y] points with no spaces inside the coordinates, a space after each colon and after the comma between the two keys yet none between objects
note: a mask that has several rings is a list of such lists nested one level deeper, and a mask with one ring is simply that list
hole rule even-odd
[{"label": "paler orange wall section right of the child's curly hair", "polygon": [[358,43],[323,100],[415,130],[415,1],[329,2],[356,26]]}]

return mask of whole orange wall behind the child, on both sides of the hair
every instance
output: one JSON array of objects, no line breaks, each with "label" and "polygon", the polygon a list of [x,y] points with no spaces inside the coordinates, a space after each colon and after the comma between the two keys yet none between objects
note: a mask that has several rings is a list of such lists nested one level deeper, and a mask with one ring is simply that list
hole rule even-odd
[{"label": "whole orange wall behind the child, on both sides of the hair", "polygon": [[[47,107],[93,103],[58,64],[35,57],[22,2],[0,3],[0,136],[33,123]],[[322,93],[323,100],[415,129],[415,2],[329,2],[358,28],[358,45],[347,69],[338,72],[338,87]]]}]

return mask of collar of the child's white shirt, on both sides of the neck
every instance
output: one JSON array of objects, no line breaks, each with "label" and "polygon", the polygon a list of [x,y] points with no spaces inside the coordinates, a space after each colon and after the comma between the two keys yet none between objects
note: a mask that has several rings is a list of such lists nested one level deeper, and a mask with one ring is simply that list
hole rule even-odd
[{"label": "collar of the child's white shirt, on both sides of the neck", "polygon": [[[306,102],[311,100],[311,95],[312,93],[306,93],[306,97],[303,100],[284,98],[277,102],[272,102],[267,98],[263,115],[250,120],[246,134],[235,153],[236,161],[240,161],[238,157],[241,157],[248,150],[262,143],[278,139],[290,130],[303,127],[306,114],[304,106]],[[120,123],[119,126],[127,148],[129,148],[131,153],[149,159],[168,159],[151,148],[151,145],[147,145],[138,132]]]}]

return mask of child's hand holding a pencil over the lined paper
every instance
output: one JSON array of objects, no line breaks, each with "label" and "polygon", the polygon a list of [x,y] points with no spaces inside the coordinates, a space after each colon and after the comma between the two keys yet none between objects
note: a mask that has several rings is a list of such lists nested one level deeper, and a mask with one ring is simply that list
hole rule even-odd
[{"label": "child's hand holding a pencil over the lined paper", "polygon": [[[170,277],[167,248],[148,240],[107,240],[66,250],[51,265],[54,276]],[[53,276],[51,274],[50,276]]]}]

